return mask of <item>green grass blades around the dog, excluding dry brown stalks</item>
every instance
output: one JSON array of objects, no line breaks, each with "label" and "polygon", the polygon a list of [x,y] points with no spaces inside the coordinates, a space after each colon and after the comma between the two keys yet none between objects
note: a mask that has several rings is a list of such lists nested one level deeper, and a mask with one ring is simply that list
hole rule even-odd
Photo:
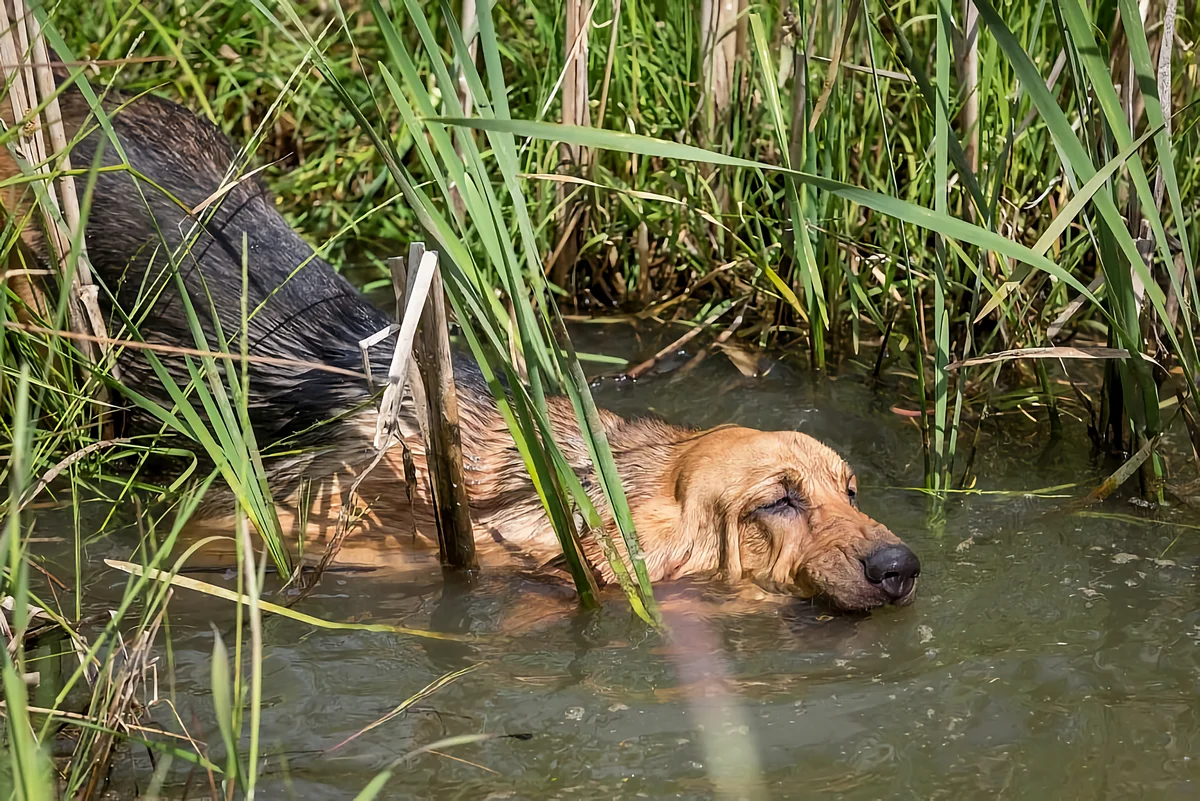
[{"label": "green grass blades around the dog, excluding dry brown stalks", "polygon": [[[749,319],[726,333],[744,345],[805,353],[817,369],[860,362],[904,377],[910,398],[896,405],[910,406],[920,430],[935,495],[970,482],[964,442],[977,439],[989,409],[1004,406],[1009,386],[1028,387],[1021,411],[1051,433],[1060,414],[1088,416],[1097,446],[1118,458],[1136,453],[1141,493],[1162,499],[1169,475],[1157,445],[1171,424],[1169,393],[1200,442],[1192,422],[1200,64],[1194,48],[1176,43],[1169,79],[1159,68],[1174,4],[1148,4],[1142,20],[1129,0],[976,0],[973,32],[944,0],[749,4],[738,85],[721,109],[706,104],[694,6],[595,4],[593,31],[608,31],[613,46],[589,49],[590,128],[553,122],[564,20],[548,0],[500,2],[466,26],[432,0],[64,0],[38,13],[64,59],[107,65],[77,74],[180,100],[257,144],[283,213],[366,288],[386,285],[385,259],[415,239],[440,252],[462,333],[586,602],[595,588],[576,511],[600,534],[606,516],[617,523],[605,553],[632,608],[655,620],[564,312],[636,309],[703,324],[739,303]],[[1182,6],[1186,43],[1195,40],[1194,4]],[[468,55],[474,34],[478,61]],[[977,68],[955,68],[968,60]],[[458,74],[470,114],[458,104]],[[17,137],[6,131],[0,141]],[[560,143],[590,150],[586,174],[559,164]],[[86,165],[76,171],[84,186],[95,180]],[[588,211],[578,260],[556,285],[545,264],[560,203]],[[25,224],[8,219],[4,229],[8,270],[22,266],[16,243]],[[163,264],[184,255],[163,253]],[[65,295],[50,297],[65,308]],[[5,323],[18,303],[6,283]],[[137,312],[114,315],[114,337],[140,338]],[[212,355],[236,356],[241,332],[218,329],[208,342],[190,314],[196,341],[180,344],[206,355],[186,357],[187,381],[162,361],[182,356],[149,354],[166,403],[124,391],[71,341],[46,333],[62,327],[62,314],[36,319],[41,330],[6,327],[0,338],[0,423],[11,444],[0,446],[10,487],[0,595],[12,600],[14,643],[0,668],[18,797],[86,797],[95,758],[131,740],[118,729],[134,710],[116,701],[140,686],[144,651],[122,651],[116,634],[150,649],[172,592],[196,588],[173,578],[180,562],[167,560],[211,482],[234,490],[278,571],[293,567],[248,426],[246,374],[235,359]],[[1073,361],[1080,357],[1103,360],[1103,378],[1090,381],[1093,372]],[[89,381],[152,415],[163,435],[106,438],[108,409],[85,391]],[[601,508],[550,430],[545,404],[556,392],[575,406]],[[192,475],[191,451],[217,469]],[[158,486],[143,470],[156,456],[192,466]],[[60,481],[47,489],[38,476]],[[74,510],[73,609],[48,603],[30,573],[26,507],[49,492],[64,492]],[[95,532],[79,510],[91,498],[113,510],[138,499],[155,513],[126,565],[124,598],[85,630],[82,546]],[[164,510],[178,512],[174,523],[158,522]],[[259,616],[340,624],[259,602],[265,560],[244,537],[236,546],[232,657],[217,639],[212,661],[223,759],[150,747],[198,765],[228,793],[252,795]],[[82,655],[54,706],[40,711],[24,686],[31,615],[49,619]],[[88,703],[68,718],[77,687]],[[66,719],[85,747],[52,776],[46,747]]]}]

